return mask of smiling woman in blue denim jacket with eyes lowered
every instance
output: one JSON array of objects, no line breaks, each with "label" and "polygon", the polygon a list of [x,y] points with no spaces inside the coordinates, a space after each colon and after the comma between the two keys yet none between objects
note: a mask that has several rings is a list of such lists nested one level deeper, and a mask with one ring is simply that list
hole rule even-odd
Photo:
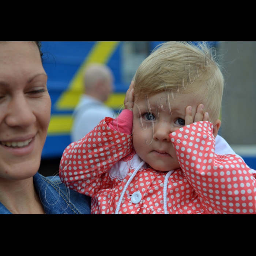
[{"label": "smiling woman in blue denim jacket with eyes lowered", "polygon": [[0,42],[0,214],[89,214],[89,197],[37,172],[51,109],[40,45]]}]

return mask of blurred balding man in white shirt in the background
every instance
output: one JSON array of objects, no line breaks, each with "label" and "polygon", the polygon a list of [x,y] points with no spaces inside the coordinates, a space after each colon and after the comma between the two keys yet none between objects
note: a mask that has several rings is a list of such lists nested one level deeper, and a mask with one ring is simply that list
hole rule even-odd
[{"label": "blurred balding man in white shirt in the background", "polygon": [[84,73],[84,94],[73,117],[71,140],[78,141],[114,111],[103,104],[113,91],[113,73],[106,65],[90,65]]}]

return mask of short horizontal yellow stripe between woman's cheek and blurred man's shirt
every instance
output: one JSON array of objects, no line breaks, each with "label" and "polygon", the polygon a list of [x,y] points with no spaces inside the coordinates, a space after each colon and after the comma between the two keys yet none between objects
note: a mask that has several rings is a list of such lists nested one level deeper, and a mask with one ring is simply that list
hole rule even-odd
[{"label": "short horizontal yellow stripe between woman's cheek and blurred man's shirt", "polygon": [[[71,131],[72,115],[52,115],[47,135],[67,135]],[[57,133],[57,134],[56,134]]]}]

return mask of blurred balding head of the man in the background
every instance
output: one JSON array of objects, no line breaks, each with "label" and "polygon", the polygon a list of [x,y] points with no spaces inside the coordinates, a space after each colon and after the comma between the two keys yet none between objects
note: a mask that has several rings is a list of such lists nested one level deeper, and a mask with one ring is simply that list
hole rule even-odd
[{"label": "blurred balding head of the man in the background", "polygon": [[84,93],[106,101],[113,91],[113,73],[106,65],[92,64],[84,72]]}]

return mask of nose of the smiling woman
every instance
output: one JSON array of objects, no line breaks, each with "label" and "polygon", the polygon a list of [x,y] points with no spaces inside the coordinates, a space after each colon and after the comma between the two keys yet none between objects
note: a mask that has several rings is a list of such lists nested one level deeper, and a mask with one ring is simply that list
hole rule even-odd
[{"label": "nose of the smiling woman", "polygon": [[36,117],[25,95],[13,97],[8,104],[5,123],[10,127],[28,127],[35,121]]}]

